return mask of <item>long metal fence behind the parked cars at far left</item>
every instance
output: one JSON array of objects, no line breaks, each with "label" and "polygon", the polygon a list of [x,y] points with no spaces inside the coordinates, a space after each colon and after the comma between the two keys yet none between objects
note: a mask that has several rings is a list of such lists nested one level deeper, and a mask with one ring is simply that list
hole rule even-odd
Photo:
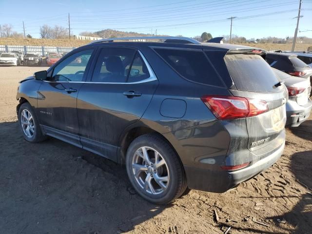
[{"label": "long metal fence behind the parked cars at far left", "polygon": [[0,45],[0,52],[10,52],[14,50],[23,51],[24,53],[38,53],[45,56],[48,52],[70,52],[76,47],[62,47],[62,46],[33,46],[33,45]]}]

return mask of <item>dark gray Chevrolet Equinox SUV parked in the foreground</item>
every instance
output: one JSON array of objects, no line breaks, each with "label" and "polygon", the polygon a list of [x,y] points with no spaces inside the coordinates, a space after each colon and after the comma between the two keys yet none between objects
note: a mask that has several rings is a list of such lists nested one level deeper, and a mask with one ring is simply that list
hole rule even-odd
[{"label": "dark gray Chevrolet Equinox SUV parked in the foreground", "polygon": [[20,82],[20,128],[125,164],[154,203],[187,187],[223,193],[284,149],[288,92],[264,55],[189,38],[94,41]]}]

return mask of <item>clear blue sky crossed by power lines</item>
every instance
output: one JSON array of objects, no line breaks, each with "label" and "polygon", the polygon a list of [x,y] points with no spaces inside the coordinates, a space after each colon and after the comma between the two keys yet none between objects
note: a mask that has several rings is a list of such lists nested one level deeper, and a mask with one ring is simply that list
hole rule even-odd
[{"label": "clear blue sky crossed by power lines", "polygon": [[[0,24],[39,38],[39,27],[60,25],[71,34],[115,29],[158,35],[247,39],[293,37],[299,0],[0,0]],[[312,0],[302,0],[298,36],[312,38]],[[308,31],[310,30],[310,31]]]}]

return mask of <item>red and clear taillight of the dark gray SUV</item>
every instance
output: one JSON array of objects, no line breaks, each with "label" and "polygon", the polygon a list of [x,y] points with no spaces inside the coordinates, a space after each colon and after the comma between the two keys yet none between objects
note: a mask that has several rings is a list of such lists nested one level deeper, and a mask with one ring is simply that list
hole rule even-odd
[{"label": "red and clear taillight of the dark gray SUV", "polygon": [[253,98],[204,95],[201,100],[218,119],[253,117],[269,110],[266,101]]}]

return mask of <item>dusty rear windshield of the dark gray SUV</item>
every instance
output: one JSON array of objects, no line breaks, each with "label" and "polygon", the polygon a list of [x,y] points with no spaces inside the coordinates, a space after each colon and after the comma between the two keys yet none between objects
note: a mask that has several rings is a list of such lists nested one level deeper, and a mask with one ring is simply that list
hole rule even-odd
[{"label": "dusty rear windshield of the dark gray SUV", "polygon": [[279,80],[270,65],[259,55],[233,54],[224,57],[238,90],[274,92]]}]

